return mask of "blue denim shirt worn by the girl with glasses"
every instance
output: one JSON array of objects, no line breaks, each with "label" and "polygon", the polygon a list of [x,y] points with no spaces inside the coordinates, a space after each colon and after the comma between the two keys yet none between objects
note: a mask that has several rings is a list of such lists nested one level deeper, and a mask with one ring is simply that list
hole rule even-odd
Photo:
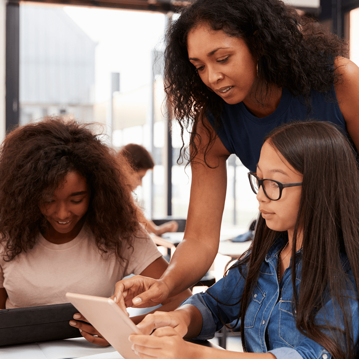
[{"label": "blue denim shirt worn by the girl with glasses", "polygon": [[[252,353],[270,352],[277,359],[330,359],[331,354],[323,346],[301,334],[295,327],[290,266],[285,270],[280,283],[277,275],[278,257],[285,244],[284,240],[277,240],[262,263],[258,283],[251,294],[244,318],[244,337],[247,351]],[[349,261],[346,256],[342,260],[342,265],[353,288],[356,288],[351,270],[348,269]],[[297,293],[300,285],[300,269],[301,261],[298,263],[297,270]],[[206,293],[195,294],[181,304],[192,304],[202,314],[202,330],[195,339],[211,339],[214,337],[214,333],[223,327],[222,321],[228,324],[237,319],[239,304],[235,303],[241,298],[244,282],[245,280],[239,274],[238,268],[234,268],[229,270],[227,276],[207,290],[220,303],[232,304],[230,306],[217,303]],[[352,318],[355,318],[353,320],[353,339],[356,343],[355,351],[357,351],[359,336],[358,293],[349,290],[348,295],[351,297],[348,300]],[[317,313],[316,320],[322,321],[324,315],[327,320],[331,317],[335,318],[334,312],[333,302],[329,300]],[[337,326],[336,322],[334,324]],[[342,323],[340,325],[344,328]]]}]

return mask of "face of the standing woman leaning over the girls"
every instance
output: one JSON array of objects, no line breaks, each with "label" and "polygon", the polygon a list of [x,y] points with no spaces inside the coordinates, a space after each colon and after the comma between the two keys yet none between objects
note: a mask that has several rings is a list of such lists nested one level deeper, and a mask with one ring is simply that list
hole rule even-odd
[{"label": "face of the standing woman leaning over the girls", "polygon": [[242,38],[207,25],[187,37],[188,58],[201,80],[229,104],[250,99],[257,79],[257,62]]}]

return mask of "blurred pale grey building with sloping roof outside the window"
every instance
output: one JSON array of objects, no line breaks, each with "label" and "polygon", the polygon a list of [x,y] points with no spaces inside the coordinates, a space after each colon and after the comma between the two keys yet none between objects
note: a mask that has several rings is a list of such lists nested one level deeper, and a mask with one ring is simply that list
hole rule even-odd
[{"label": "blurred pale grey building with sloping roof outside the window", "polygon": [[96,45],[62,8],[20,7],[20,125],[47,115],[95,120]]}]

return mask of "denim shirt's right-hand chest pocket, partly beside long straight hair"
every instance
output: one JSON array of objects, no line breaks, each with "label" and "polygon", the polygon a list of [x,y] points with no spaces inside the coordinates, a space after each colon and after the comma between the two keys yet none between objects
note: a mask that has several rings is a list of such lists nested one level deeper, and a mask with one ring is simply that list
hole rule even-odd
[{"label": "denim shirt's right-hand chest pocket, partly beside long straight hair", "polygon": [[295,328],[297,321],[294,302],[292,298],[282,297],[279,300],[279,337],[287,345],[294,348],[305,338]]}]

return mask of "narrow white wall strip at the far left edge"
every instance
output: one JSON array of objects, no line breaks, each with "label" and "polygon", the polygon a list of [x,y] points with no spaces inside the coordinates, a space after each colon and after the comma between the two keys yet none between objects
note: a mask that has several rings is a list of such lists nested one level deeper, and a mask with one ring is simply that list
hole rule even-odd
[{"label": "narrow white wall strip at the far left edge", "polygon": [[0,0],[0,143],[5,137],[6,0]]}]

